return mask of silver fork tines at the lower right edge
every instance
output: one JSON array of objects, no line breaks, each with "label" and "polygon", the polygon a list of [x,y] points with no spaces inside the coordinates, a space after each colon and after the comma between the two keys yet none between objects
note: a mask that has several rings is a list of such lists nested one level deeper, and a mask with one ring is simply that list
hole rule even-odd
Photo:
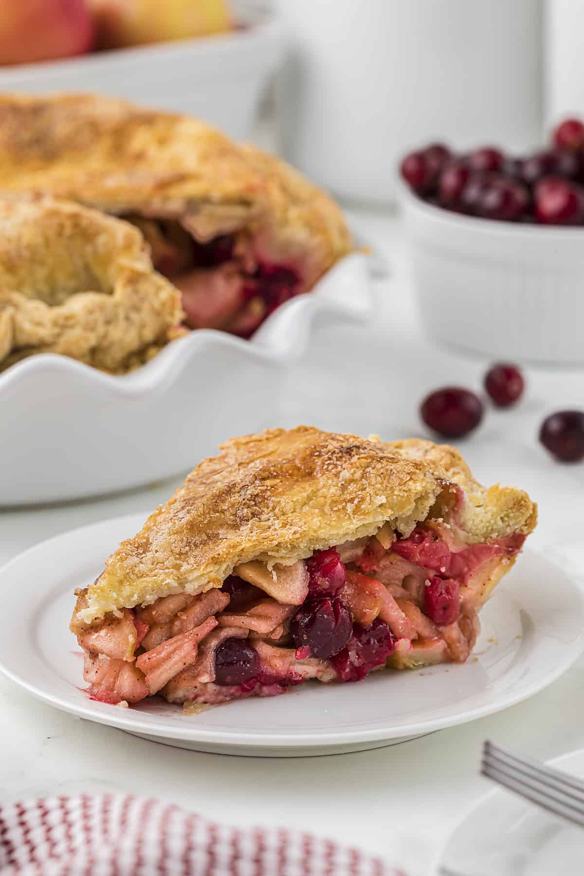
[{"label": "silver fork tines at the lower right edge", "polygon": [[552,777],[555,784],[550,786],[547,783],[548,776],[545,773],[541,774],[537,766],[522,764],[524,768],[518,770],[513,763],[496,759],[493,756],[493,748],[496,746],[484,745],[482,775],[536,803],[548,812],[584,827],[584,802],[579,795],[574,795],[572,788],[563,788],[557,776]]}]

